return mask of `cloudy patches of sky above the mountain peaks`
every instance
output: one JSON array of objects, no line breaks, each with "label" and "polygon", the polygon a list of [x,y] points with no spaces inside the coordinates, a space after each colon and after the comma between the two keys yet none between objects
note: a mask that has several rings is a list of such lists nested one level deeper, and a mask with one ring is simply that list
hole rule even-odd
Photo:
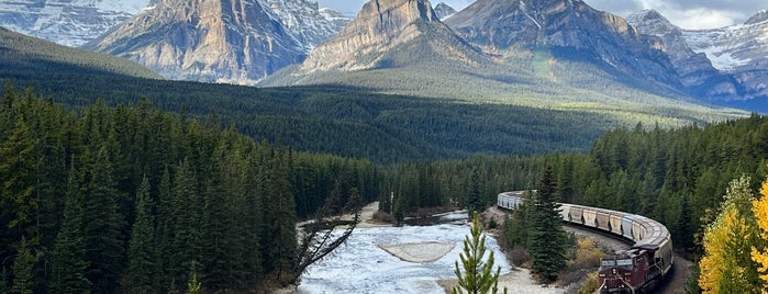
[{"label": "cloudy patches of sky above the mountain peaks", "polygon": [[[768,9],[766,0],[585,0],[591,7],[626,16],[643,9],[655,9],[683,29],[713,29],[742,23],[760,10]],[[367,0],[319,0],[321,7],[355,14]],[[474,0],[431,0],[433,5],[445,2],[460,10]]]}]

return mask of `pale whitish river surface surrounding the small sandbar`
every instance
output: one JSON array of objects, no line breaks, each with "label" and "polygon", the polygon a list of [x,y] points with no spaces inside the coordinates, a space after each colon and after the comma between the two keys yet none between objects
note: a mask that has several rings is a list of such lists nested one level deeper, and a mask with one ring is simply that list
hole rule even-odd
[{"label": "pale whitish river surface surrounding the small sandbar", "polygon": [[[454,262],[469,234],[466,213],[446,218],[454,220],[433,226],[356,228],[345,245],[309,268],[301,278],[299,293],[445,293],[437,281],[456,278]],[[438,260],[425,263],[403,261],[379,247],[415,242],[455,246]],[[486,246],[494,251],[494,264],[501,265],[501,273],[509,272],[510,264],[496,239],[488,237]],[[430,250],[428,246],[421,248]]]}]

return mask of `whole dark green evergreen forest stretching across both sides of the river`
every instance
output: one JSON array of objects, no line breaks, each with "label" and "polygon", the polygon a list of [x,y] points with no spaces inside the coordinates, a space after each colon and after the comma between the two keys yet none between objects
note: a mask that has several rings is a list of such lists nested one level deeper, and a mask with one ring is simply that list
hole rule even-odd
[{"label": "whole dark green evergreen forest stretching across both sides of the river", "polygon": [[760,115],[617,127],[589,152],[382,163],[297,151],[242,134],[222,114],[168,113],[146,100],[66,106],[7,84],[0,105],[3,293],[182,293],[190,281],[264,290],[294,282],[296,224],[329,199],[359,193],[401,216],[481,210],[542,174],[557,186],[549,197],[663,222],[695,260],[728,183],[768,174]]}]

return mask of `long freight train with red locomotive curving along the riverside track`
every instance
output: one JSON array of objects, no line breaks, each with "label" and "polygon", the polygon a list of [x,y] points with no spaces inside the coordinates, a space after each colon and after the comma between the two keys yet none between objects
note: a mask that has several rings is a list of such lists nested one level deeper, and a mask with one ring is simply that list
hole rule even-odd
[{"label": "long freight train with red locomotive curving along the riverside track", "polygon": [[[515,210],[525,191],[504,192],[497,205]],[[672,268],[672,240],[667,227],[641,215],[560,203],[563,220],[596,229],[633,244],[627,250],[608,255],[600,261],[600,293],[647,293]]]}]

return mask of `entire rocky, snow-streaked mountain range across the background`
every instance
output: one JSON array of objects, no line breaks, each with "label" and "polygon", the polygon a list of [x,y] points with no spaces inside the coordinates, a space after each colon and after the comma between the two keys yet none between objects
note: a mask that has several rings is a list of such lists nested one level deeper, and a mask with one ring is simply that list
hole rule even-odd
[{"label": "entire rocky, snow-streaked mountain range across the background", "polygon": [[[625,20],[580,0],[478,0],[459,12],[426,0],[371,0],[354,21],[311,0],[153,0],[143,9],[147,0],[136,1],[0,3],[0,25],[87,42],[170,79],[342,83],[526,105],[693,98],[768,111],[760,108],[768,104],[765,11],[744,24],[686,31],[655,11]],[[66,27],[86,30],[60,36]],[[456,81],[475,83],[457,90]],[[443,82],[450,87],[422,89]],[[498,94],[528,87],[588,93]],[[603,97],[606,89],[621,89],[619,98]]]}]

